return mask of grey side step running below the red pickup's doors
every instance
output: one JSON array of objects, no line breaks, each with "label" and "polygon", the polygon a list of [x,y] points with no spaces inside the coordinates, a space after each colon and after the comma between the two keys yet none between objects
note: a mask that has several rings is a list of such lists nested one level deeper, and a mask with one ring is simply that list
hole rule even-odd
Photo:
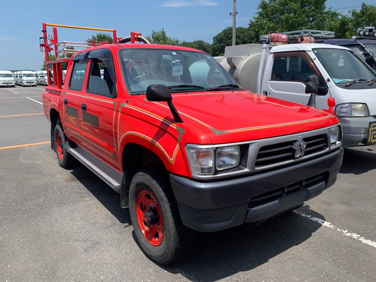
[{"label": "grey side step running below the red pickup's doors", "polygon": [[117,193],[120,193],[123,175],[119,171],[71,141],[68,141],[65,146],[74,158],[82,162],[85,167],[94,172]]}]

